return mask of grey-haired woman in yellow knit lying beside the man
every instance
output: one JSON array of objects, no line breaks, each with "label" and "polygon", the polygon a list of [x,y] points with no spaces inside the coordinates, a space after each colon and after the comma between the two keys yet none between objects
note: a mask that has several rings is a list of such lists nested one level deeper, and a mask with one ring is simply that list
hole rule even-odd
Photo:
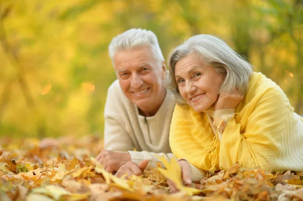
[{"label": "grey-haired woman in yellow knit lying beside the man", "polygon": [[[178,104],[170,146],[183,180],[235,162],[265,171],[303,171],[303,118],[282,89],[211,35],[171,51],[167,87]],[[185,159],[185,160],[184,160]]]}]

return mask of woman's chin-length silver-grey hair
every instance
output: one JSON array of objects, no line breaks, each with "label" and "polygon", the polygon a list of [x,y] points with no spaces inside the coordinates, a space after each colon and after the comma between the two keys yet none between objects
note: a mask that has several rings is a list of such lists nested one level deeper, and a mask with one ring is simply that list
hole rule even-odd
[{"label": "woman's chin-length silver-grey hair", "polygon": [[175,65],[189,54],[199,56],[207,65],[212,66],[224,77],[219,93],[229,93],[234,89],[245,95],[252,74],[252,65],[232,50],[223,40],[211,35],[196,35],[173,49],[168,56],[169,76],[166,87],[175,95],[176,102],[184,104],[175,79]]}]

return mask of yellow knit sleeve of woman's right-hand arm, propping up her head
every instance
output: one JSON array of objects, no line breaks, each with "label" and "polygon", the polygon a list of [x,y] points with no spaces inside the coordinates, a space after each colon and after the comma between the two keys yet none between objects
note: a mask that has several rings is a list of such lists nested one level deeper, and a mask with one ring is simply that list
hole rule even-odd
[{"label": "yellow knit sleeve of woman's right-hand arm, propping up her head", "polygon": [[243,111],[228,121],[223,132],[220,168],[239,162],[245,168],[270,171],[293,109],[282,90],[273,87],[253,98]]}]

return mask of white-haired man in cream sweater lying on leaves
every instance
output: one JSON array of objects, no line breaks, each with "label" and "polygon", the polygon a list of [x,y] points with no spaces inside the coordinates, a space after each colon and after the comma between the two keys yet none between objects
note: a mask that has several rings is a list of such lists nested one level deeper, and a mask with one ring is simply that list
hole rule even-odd
[{"label": "white-haired man in cream sweater lying on leaves", "polygon": [[169,128],[175,104],[164,87],[165,60],[157,36],[142,29],[115,37],[109,54],[118,80],[108,90],[105,150],[96,159],[117,176],[141,175],[148,162],[160,162],[157,155],[174,157]]}]

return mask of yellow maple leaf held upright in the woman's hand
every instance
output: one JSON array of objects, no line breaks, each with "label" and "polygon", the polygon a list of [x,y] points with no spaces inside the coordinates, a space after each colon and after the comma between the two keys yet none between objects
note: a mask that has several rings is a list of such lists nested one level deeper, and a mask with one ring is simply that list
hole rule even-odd
[{"label": "yellow maple leaf held upright in the woman's hand", "polygon": [[171,162],[169,163],[164,156],[158,157],[162,163],[165,165],[166,169],[163,169],[159,167],[159,171],[164,174],[168,179],[172,180],[175,182],[177,188],[180,191],[186,192],[188,195],[193,195],[201,192],[200,190],[196,188],[190,188],[190,187],[185,187],[183,185],[183,181],[181,178],[181,168],[175,158],[171,159]]}]

